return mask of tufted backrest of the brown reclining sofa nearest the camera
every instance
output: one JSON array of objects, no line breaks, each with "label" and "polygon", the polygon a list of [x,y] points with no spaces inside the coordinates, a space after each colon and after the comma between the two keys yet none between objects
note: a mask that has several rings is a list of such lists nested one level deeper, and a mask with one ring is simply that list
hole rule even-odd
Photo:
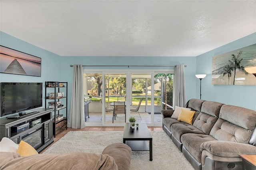
[{"label": "tufted backrest of the brown reclining sofa nearest the camera", "polygon": [[256,111],[223,105],[218,121],[212,127],[210,135],[217,140],[249,143],[256,127]]}]

